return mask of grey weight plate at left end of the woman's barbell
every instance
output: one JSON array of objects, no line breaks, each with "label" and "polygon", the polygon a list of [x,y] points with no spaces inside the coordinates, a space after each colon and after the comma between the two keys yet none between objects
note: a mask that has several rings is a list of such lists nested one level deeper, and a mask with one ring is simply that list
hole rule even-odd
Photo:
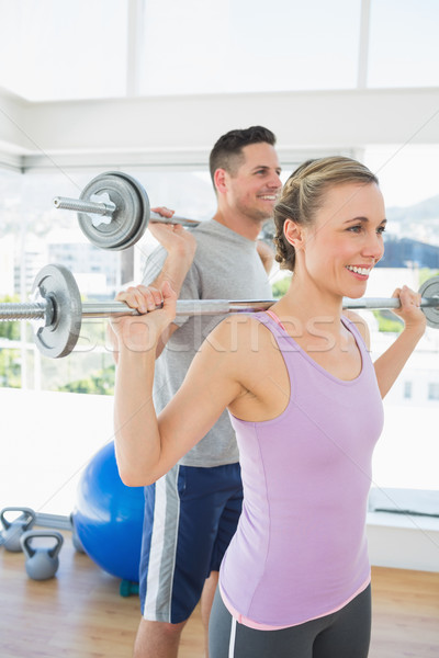
[{"label": "grey weight plate at left end of the woman's barbell", "polygon": [[64,265],[46,265],[32,291],[52,302],[53,317],[34,336],[38,350],[50,359],[67,356],[78,342],[82,320],[81,296],[74,275]]}]

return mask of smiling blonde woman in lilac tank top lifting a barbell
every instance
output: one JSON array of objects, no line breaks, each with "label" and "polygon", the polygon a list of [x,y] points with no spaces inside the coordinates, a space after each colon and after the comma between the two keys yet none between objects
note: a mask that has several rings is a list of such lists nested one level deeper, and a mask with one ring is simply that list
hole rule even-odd
[{"label": "smiling blonde woman in lilac tank top lifting a barbell", "polygon": [[305,162],[274,215],[277,259],[293,271],[269,311],[229,316],[204,342],[157,419],[155,349],[176,295],[130,288],[138,310],[119,342],[116,454],[122,479],[164,475],[228,408],[244,481],[238,530],[222,564],[211,658],[363,658],[370,637],[365,543],[371,458],[389,392],[426,327],[420,296],[395,291],[405,328],[372,365],[365,324],[342,297],[365,293],[383,256],[383,197],[361,163]]}]

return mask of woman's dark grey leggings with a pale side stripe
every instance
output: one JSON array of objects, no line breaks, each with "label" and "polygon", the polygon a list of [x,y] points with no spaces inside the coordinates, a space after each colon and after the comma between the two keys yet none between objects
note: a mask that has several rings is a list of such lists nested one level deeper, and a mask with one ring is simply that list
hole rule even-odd
[{"label": "woman's dark grey leggings with a pale side stripe", "polygon": [[367,658],[371,588],[341,610],[281,628],[257,631],[236,622],[216,590],[209,625],[210,658]]}]

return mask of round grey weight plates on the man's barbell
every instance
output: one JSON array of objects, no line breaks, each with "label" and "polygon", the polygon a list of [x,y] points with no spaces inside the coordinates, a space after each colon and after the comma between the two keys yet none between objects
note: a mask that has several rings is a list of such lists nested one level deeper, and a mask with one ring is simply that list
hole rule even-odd
[{"label": "round grey weight plates on the man's barbell", "polygon": [[90,242],[100,249],[127,249],[142,237],[147,227],[148,196],[135,179],[115,171],[102,173],[90,181],[80,198],[99,201],[99,196],[103,194],[116,206],[111,222],[94,226],[90,215],[78,213],[79,226]]}]

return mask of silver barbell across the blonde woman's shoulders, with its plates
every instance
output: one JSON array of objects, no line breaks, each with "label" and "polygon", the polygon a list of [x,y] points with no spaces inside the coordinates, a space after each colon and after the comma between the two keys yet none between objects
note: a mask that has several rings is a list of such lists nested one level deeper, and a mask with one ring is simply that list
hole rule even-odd
[{"label": "silver barbell across the blonde woman's shoulders, with its plates", "polygon": [[[109,318],[116,316],[138,316],[137,310],[123,302],[82,303],[77,282],[64,265],[49,264],[43,268],[33,284],[33,302],[0,304],[0,321],[37,320],[34,340],[38,350],[46,356],[58,359],[74,350],[81,329],[82,318]],[[439,276],[426,281],[419,288],[420,307],[427,324],[439,328]],[[179,299],[178,316],[227,315],[230,313],[255,313],[266,310],[275,299]],[[344,308],[379,309],[398,308],[395,297],[344,297]]]}]

